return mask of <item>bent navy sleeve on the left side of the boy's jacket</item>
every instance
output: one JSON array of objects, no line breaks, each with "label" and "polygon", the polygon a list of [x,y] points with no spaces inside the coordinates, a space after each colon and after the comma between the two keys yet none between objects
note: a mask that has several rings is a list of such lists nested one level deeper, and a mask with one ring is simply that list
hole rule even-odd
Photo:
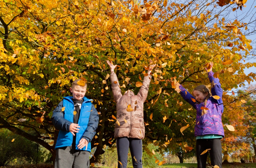
[{"label": "bent navy sleeve on the left side of the boy's jacket", "polygon": [[54,109],[52,112],[52,124],[55,126],[57,130],[62,130],[69,132],[69,126],[72,124],[72,122],[64,119],[64,111],[61,111],[61,108],[63,107],[63,101],[59,103],[59,105]]}]

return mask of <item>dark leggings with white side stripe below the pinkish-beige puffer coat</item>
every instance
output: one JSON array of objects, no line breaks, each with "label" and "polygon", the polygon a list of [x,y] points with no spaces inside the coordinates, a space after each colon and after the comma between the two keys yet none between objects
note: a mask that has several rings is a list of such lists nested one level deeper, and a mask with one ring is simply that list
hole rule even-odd
[{"label": "dark leggings with white side stripe below the pinkish-beige puffer coat", "polygon": [[126,168],[128,150],[130,147],[134,168],[142,168],[142,140],[138,138],[121,137],[116,140],[118,168]]}]

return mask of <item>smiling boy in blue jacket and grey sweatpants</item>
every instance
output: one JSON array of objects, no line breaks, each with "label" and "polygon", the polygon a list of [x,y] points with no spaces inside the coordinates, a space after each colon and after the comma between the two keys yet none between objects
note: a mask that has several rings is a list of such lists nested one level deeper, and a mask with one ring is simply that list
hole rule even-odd
[{"label": "smiling boy in blue jacket and grey sweatpants", "polygon": [[92,99],[85,96],[87,84],[82,87],[73,81],[69,88],[73,97],[64,97],[52,114],[52,123],[59,130],[55,145],[55,168],[89,168],[91,140],[96,133],[99,115]]}]

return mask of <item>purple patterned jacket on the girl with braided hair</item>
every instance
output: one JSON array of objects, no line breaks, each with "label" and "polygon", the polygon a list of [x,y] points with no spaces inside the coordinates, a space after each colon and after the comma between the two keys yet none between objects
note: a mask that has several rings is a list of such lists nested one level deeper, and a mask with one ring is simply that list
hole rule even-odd
[{"label": "purple patterned jacket on the girl with braided hair", "polygon": [[[219,83],[218,78],[213,77],[213,71],[208,72],[208,78],[210,82],[214,81],[215,86],[211,88],[211,94],[213,96],[217,95],[220,99],[216,100],[213,97],[209,97],[206,108],[208,113],[202,116],[201,107],[204,107],[204,102],[202,103],[195,103],[192,101],[191,98],[194,98],[185,88],[180,85],[180,94],[187,101],[196,109],[196,125],[195,125],[195,137],[202,136],[207,134],[217,134],[222,135],[224,137],[224,129],[222,126],[221,116],[223,113],[223,101],[222,101],[222,88]],[[187,91],[187,94],[186,94]]]}]

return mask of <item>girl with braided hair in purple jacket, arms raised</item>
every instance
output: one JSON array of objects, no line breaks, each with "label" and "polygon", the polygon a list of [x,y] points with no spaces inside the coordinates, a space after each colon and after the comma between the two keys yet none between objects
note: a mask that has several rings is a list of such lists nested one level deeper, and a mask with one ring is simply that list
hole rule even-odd
[{"label": "girl with braided hair in purple jacket, arms raised", "polygon": [[[210,152],[211,165],[222,168],[222,147],[220,139],[224,137],[221,116],[223,113],[222,88],[218,78],[213,77],[213,62],[210,62],[208,78],[212,83],[211,92],[205,85],[193,89],[192,96],[180,85],[180,94],[189,104],[196,109],[196,157],[197,167],[206,167],[206,158]],[[206,69],[207,70],[207,69]],[[212,96],[217,96],[214,99]],[[220,97],[218,99],[218,96]],[[203,151],[208,151],[201,155]]]}]

